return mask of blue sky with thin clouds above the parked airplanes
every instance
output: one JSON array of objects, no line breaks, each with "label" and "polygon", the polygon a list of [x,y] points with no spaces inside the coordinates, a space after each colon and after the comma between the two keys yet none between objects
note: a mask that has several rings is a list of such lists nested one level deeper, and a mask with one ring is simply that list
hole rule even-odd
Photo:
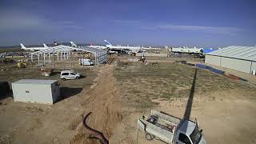
[{"label": "blue sky with thin clouds above the parked airplanes", "polygon": [[0,46],[254,46],[255,0],[1,0]]}]

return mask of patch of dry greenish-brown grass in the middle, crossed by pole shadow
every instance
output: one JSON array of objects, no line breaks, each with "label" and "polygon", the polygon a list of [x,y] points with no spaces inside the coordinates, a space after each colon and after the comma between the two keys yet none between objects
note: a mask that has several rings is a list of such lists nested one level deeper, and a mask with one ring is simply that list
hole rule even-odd
[{"label": "patch of dry greenish-brown grass in the middle, crossed by pole shadow", "polygon": [[[130,62],[115,70],[117,85],[122,91],[122,102],[127,106],[150,108],[158,105],[152,99],[174,100],[186,98],[190,94],[194,78],[194,68],[178,63],[144,63]],[[195,93],[210,94],[212,91],[245,87],[240,82],[234,82],[222,75],[206,70],[198,70]],[[214,99],[211,99],[214,100]]]}]

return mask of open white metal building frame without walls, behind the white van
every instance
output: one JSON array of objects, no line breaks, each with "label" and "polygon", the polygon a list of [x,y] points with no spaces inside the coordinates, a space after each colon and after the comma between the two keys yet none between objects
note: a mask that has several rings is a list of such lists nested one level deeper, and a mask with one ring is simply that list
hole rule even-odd
[{"label": "open white metal building frame without walls, behind the white van", "polygon": [[[38,50],[31,53],[31,62],[34,62],[34,59],[38,59],[38,66],[42,62],[44,66],[45,62],[54,62],[54,61],[63,61],[72,58],[73,51],[82,51],[90,54],[94,54],[94,66],[98,66],[106,62],[107,52],[105,50],[100,50],[88,46],[53,46],[47,49]],[[55,58],[54,58],[55,57]]]}]

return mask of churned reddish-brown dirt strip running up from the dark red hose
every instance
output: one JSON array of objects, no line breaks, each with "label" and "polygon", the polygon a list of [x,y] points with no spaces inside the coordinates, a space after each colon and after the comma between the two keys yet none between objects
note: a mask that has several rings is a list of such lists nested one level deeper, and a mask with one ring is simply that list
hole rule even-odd
[{"label": "churned reddish-brown dirt strip running up from the dark red hose", "polygon": [[[89,97],[84,103],[85,114],[93,112],[86,123],[101,131],[110,140],[114,128],[122,122],[121,104],[118,102],[118,91],[115,90],[112,65],[102,67],[96,83],[94,88],[86,93]],[[98,143],[98,139],[90,139],[89,135],[81,122],[70,143]]]}]

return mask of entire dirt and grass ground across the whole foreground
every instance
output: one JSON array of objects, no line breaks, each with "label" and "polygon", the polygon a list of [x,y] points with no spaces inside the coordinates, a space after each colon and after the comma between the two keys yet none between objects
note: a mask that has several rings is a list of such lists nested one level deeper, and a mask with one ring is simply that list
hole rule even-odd
[{"label": "entire dirt and grass ground across the whole foreground", "polygon": [[[53,106],[1,99],[0,143],[100,143],[88,138],[82,126],[90,111],[88,125],[110,143],[162,143],[146,141],[137,118],[152,109],[183,118],[195,69],[176,62],[120,62],[78,72],[86,77],[60,81],[71,94]],[[33,70],[24,73],[26,78],[44,78]],[[24,77],[18,74],[0,76],[8,81]],[[58,79],[58,73],[52,78]],[[74,94],[68,90],[72,86],[79,88]],[[193,96],[190,119],[198,118],[208,143],[255,143],[255,86],[197,70]]]}]

